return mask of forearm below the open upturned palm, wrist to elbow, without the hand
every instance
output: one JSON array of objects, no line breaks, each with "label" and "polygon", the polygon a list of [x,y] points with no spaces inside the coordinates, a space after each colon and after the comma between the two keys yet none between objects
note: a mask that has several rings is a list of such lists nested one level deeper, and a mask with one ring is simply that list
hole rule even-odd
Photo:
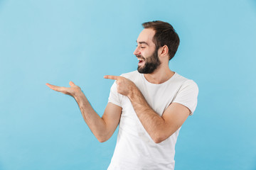
[{"label": "forearm below the open upturned palm, wrist to elbow, without the hand", "polygon": [[87,123],[93,135],[95,135],[97,140],[100,142],[104,142],[107,138],[107,125],[105,120],[100,118],[100,116],[95,112],[82,91],[79,94],[76,94],[74,98],[78,103],[85,123]]}]

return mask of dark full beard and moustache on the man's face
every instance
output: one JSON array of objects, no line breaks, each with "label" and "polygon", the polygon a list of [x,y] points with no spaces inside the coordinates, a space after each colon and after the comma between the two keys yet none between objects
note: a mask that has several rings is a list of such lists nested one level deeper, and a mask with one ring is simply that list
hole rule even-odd
[{"label": "dark full beard and moustache on the man's face", "polygon": [[142,74],[151,74],[153,73],[161,64],[159,57],[158,57],[158,50],[154,51],[154,54],[146,59],[142,55],[137,55],[136,57],[142,58],[145,60],[143,66],[138,66],[137,70],[139,73]]}]

